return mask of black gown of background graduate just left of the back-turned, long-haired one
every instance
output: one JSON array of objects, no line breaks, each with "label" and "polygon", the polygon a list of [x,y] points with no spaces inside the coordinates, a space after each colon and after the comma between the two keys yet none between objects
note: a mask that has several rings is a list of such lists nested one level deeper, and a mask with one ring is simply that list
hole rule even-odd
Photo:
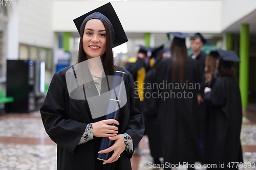
[{"label": "black gown of background graduate just left of the back-turned, long-haired one", "polygon": [[154,91],[153,86],[155,80],[154,68],[149,70],[146,74],[145,79],[145,98],[144,98],[144,123],[145,123],[145,134],[147,134],[148,142],[150,145],[150,152],[153,158],[163,157],[161,144],[161,122],[160,116],[157,112],[157,100],[153,98],[152,93]]}]

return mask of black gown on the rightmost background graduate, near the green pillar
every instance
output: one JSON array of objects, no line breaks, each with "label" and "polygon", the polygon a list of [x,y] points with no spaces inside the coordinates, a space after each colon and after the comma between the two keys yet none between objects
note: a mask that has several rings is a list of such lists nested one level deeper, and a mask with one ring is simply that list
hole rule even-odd
[{"label": "black gown on the rightmost background graduate, near the green pillar", "polygon": [[219,167],[220,162],[225,165],[243,162],[240,141],[242,105],[237,80],[231,76],[216,78],[210,102],[207,163],[216,163]]}]

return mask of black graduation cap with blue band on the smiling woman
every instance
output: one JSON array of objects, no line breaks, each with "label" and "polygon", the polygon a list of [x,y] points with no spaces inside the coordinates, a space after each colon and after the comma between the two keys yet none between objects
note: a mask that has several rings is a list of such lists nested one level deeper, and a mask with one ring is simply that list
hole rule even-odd
[{"label": "black graduation cap with blue band on the smiling woman", "polygon": [[74,19],[73,21],[76,25],[79,34],[81,34],[82,32],[84,23],[94,18],[102,19],[106,21],[106,23],[108,23],[111,29],[114,47],[128,41],[123,30],[123,27],[121,25],[121,22],[111,3],[105,4],[99,8],[96,8],[95,10],[92,10]]}]

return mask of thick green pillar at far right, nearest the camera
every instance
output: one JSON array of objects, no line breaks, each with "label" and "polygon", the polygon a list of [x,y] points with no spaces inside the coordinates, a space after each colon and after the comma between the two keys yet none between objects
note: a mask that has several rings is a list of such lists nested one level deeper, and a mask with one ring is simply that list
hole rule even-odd
[{"label": "thick green pillar at far right, nearest the camera", "polygon": [[248,84],[249,84],[249,25],[242,23],[240,27],[240,69],[239,86],[242,98],[242,107],[248,106]]}]

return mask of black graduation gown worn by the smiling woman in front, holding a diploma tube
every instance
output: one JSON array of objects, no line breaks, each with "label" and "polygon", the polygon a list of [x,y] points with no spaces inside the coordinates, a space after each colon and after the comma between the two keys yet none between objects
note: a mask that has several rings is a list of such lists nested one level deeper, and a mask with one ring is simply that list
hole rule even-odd
[{"label": "black graduation gown worn by the smiling woman in front, holding a diploma tube", "polygon": [[[116,162],[102,165],[102,161],[97,160],[99,137],[77,145],[86,126],[103,120],[104,116],[92,119],[87,100],[70,98],[65,75],[68,68],[61,69],[53,76],[45,102],[40,109],[46,132],[57,143],[57,169],[131,170],[132,154],[125,150]],[[116,68],[128,74],[124,82],[127,103],[119,111],[118,133],[129,134],[135,149],[144,133],[140,101],[134,92],[132,75],[122,67]],[[96,88],[95,85],[92,87]]]}]

